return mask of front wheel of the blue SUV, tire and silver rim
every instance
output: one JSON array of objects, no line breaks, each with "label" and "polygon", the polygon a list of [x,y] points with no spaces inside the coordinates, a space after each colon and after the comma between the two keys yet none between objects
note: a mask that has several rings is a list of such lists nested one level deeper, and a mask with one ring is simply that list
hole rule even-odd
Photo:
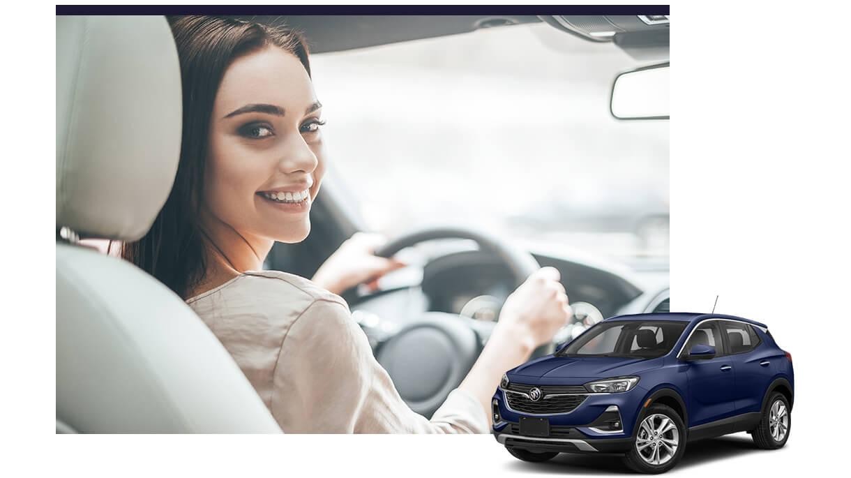
[{"label": "front wheel of the blue SUV, tire and silver rim", "polygon": [[[648,462],[648,459],[645,459],[643,456],[643,452],[638,451],[638,443],[642,441],[642,445],[645,445],[647,442],[646,433],[643,432],[642,424],[645,419],[653,418],[655,420],[659,420],[660,424],[662,423],[661,418],[656,418],[656,416],[663,416],[664,418],[669,418],[671,423],[676,426],[677,434],[669,430],[665,431],[665,433],[659,438],[655,439],[654,437],[650,437],[651,442],[654,442],[651,448],[643,448],[643,450],[649,450],[650,453],[654,452],[657,444],[660,446],[660,450],[663,452],[669,453],[668,456],[664,459],[664,463],[661,464],[651,464]],[[665,473],[665,471],[675,467],[677,463],[680,461],[680,458],[683,458],[683,452],[686,449],[686,439],[688,430],[683,423],[683,418],[674,412],[674,409],[670,406],[656,404],[649,406],[645,409],[644,413],[639,415],[638,421],[636,423],[636,429],[632,434],[632,445],[630,446],[630,451],[626,452],[624,457],[624,463],[633,471],[637,471],[638,473],[647,473],[647,474],[657,474],[657,473]],[[666,443],[673,441],[676,436],[676,448],[673,451],[673,454],[670,454],[671,447]],[[665,438],[667,441],[665,444],[662,444],[662,439]],[[664,447],[663,447],[664,446]],[[661,453],[661,452],[660,452]],[[653,455],[651,455],[652,457]]]}]

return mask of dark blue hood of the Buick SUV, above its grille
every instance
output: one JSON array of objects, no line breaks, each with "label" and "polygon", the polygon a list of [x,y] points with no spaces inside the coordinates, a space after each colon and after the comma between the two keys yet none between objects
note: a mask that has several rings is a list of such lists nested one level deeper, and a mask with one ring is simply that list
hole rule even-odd
[{"label": "dark blue hood of the Buick SUV, above its grille", "polygon": [[[555,357],[548,355],[531,360],[509,371],[509,375],[539,378],[603,379],[632,375],[662,366],[659,359],[632,359],[624,357]],[[511,379],[511,377],[509,377]],[[586,380],[587,381],[587,380]]]}]

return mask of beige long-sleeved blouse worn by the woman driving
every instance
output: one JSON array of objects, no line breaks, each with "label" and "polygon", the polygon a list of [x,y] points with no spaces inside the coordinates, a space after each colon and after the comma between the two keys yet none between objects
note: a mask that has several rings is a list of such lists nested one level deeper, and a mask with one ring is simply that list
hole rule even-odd
[{"label": "beige long-sleeved blouse worn by the woman driving", "polygon": [[488,433],[454,389],[431,420],[411,410],[342,297],[278,271],[248,271],[186,303],[219,337],[285,433]]}]

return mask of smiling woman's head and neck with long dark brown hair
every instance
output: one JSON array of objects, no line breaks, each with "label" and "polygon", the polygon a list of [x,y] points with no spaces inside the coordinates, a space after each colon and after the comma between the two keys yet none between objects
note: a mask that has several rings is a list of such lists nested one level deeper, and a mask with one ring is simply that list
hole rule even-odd
[{"label": "smiling woman's head and neck with long dark brown hair", "polygon": [[294,32],[213,17],[170,23],[184,89],[180,166],[151,230],[122,254],[186,298],[259,268],[269,237],[307,236],[324,172],[322,122]]}]

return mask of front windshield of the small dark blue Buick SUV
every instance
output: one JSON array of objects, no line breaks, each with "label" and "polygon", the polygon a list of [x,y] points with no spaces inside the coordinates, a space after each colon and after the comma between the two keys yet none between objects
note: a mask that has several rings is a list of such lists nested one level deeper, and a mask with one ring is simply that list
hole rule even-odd
[{"label": "front windshield of the small dark blue Buick SUV", "polygon": [[653,359],[671,352],[686,322],[601,322],[563,348],[559,357],[634,357]]}]

